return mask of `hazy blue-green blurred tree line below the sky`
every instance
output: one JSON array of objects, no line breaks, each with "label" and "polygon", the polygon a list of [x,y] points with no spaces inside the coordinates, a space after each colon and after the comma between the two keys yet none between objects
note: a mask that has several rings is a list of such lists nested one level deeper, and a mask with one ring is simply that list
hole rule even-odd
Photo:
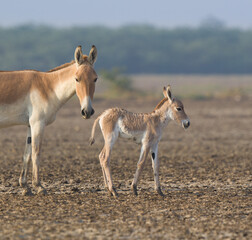
[{"label": "hazy blue-green blurred tree line below the sky", "polygon": [[96,69],[126,73],[252,73],[252,30],[202,25],[160,29],[24,25],[0,28],[0,69],[47,71],[73,59],[82,45],[98,49]]}]

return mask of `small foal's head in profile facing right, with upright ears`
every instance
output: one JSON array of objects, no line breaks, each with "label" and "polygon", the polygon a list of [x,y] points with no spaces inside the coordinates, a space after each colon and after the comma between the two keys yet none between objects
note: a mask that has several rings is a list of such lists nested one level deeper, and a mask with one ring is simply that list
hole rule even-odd
[{"label": "small foal's head in profile facing right, with upright ears", "polygon": [[163,94],[166,99],[164,105],[166,105],[166,111],[169,117],[175,120],[184,129],[188,128],[190,126],[190,120],[185,113],[183,103],[173,98],[170,85],[164,87]]}]

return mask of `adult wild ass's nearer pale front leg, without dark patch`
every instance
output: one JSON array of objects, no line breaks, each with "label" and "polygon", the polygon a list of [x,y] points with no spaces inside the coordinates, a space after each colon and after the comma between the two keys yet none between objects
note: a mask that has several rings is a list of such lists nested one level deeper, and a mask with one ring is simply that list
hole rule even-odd
[{"label": "adult wild ass's nearer pale front leg, without dark patch", "polygon": [[39,157],[42,143],[42,136],[44,132],[44,123],[36,121],[31,125],[32,137],[32,185],[37,189],[37,193],[47,194],[45,188],[41,185],[39,180]]}]

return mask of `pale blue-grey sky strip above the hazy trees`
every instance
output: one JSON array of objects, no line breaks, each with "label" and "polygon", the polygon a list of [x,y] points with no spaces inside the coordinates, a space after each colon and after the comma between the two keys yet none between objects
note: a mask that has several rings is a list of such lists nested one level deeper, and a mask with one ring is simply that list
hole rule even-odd
[{"label": "pale blue-grey sky strip above the hazy trees", "polygon": [[26,23],[60,27],[151,24],[198,26],[215,17],[229,27],[252,28],[252,0],[8,0],[0,7],[0,26]]}]

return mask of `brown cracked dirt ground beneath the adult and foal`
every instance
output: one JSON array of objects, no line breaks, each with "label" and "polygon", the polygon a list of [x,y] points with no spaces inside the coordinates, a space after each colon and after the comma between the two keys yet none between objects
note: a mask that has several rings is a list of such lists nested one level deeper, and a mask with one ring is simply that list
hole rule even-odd
[{"label": "brown cracked dirt ground beneath the adult and foal", "polygon": [[[95,116],[119,106],[149,112],[154,100],[96,99]],[[18,187],[25,127],[0,133],[0,239],[252,239],[251,99],[184,101],[191,126],[171,122],[159,144],[160,181],[154,192],[151,160],[133,196],[130,184],[140,146],[120,139],[111,168],[119,198],[104,189],[98,155],[102,136],[88,139],[77,101],[47,127],[41,180],[47,196]],[[31,184],[31,173],[29,173]]]}]

